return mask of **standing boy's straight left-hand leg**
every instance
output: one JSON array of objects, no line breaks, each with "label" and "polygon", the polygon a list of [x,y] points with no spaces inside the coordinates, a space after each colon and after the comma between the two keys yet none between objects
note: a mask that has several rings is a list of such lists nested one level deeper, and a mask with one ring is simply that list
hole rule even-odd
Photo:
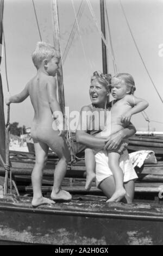
[{"label": "standing boy's straight left-hand leg", "polygon": [[34,207],[41,204],[54,204],[53,200],[42,196],[41,185],[42,185],[42,174],[43,168],[47,161],[48,146],[42,142],[36,142],[34,140],[35,147],[35,166],[32,172],[32,186],[33,186],[33,200],[32,205]]}]

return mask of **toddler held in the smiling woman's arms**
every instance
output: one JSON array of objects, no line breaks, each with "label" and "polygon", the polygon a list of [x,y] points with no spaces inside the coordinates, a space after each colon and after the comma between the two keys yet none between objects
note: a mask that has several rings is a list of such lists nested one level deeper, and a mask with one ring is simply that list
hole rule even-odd
[{"label": "toddler held in the smiling woman's arms", "polygon": [[[95,78],[96,79],[96,78]],[[108,138],[111,134],[116,133],[129,124],[131,115],[139,113],[148,107],[148,102],[135,97],[135,83],[130,74],[120,73],[112,77],[111,94],[115,100],[111,102],[110,119],[106,120],[106,127],[102,132],[99,132],[96,137]],[[98,92],[95,92],[95,95]],[[86,159],[92,159],[93,151],[87,149]],[[126,190],[123,187],[123,171],[119,166],[120,154],[118,149],[108,152],[109,167],[115,179],[116,191],[107,202],[118,202],[125,195]],[[90,163],[91,164],[91,163]],[[92,163],[92,169],[95,168],[95,163]],[[91,168],[89,168],[91,173]],[[90,177],[93,176],[89,174]],[[89,176],[88,175],[88,176]],[[94,174],[95,175],[95,174]],[[87,187],[90,187],[90,182],[87,181]]]}]

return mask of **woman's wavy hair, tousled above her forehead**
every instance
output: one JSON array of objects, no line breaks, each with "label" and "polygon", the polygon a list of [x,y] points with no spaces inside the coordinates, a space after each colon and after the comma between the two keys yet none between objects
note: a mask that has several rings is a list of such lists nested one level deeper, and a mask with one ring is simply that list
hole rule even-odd
[{"label": "woman's wavy hair, tousled above her forehead", "polygon": [[95,79],[100,84],[102,84],[102,86],[104,86],[108,92],[111,92],[111,74],[104,75],[100,71],[95,71],[95,72],[93,72],[93,75],[91,76],[91,82]]}]

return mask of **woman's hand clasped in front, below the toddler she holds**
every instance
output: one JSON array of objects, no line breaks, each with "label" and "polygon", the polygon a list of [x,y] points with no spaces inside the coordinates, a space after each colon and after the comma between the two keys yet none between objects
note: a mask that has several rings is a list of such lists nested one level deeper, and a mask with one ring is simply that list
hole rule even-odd
[{"label": "woman's hand clasped in front, below the toddler she holds", "polygon": [[116,149],[122,142],[122,133],[121,132],[117,132],[114,134],[111,134],[105,141],[105,150],[112,150],[112,149]]}]

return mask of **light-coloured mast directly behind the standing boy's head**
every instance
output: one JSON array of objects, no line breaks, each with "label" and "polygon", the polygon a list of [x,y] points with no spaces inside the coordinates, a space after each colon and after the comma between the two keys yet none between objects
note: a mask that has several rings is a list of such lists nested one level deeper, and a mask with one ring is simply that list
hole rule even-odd
[{"label": "light-coloured mast directly behind the standing boy's head", "polygon": [[[54,47],[61,54],[57,0],[53,0],[52,4],[53,4],[53,40],[54,40]],[[58,82],[59,103],[60,103],[62,113],[65,114],[65,94],[64,94],[62,62],[60,62],[60,69],[57,72],[57,82]]]}]

